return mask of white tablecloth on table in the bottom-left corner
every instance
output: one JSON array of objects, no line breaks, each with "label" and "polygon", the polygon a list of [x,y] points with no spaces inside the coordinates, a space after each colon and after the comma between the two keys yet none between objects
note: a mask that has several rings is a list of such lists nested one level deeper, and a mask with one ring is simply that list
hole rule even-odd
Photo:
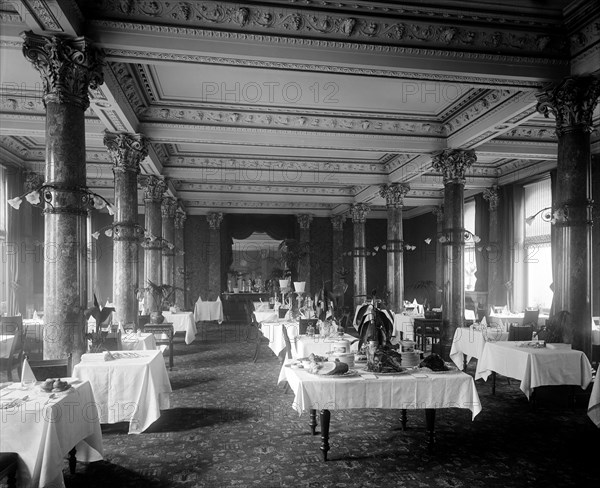
[{"label": "white tablecloth on table in the bottom-left corner", "polygon": [[17,452],[19,487],[65,486],[65,456],[74,447],[78,461],[102,459],[102,432],[90,383],[68,379],[73,388],[56,394],[39,389],[27,391],[13,384],[0,390],[0,402],[29,396],[19,406],[0,409],[0,451]]}]

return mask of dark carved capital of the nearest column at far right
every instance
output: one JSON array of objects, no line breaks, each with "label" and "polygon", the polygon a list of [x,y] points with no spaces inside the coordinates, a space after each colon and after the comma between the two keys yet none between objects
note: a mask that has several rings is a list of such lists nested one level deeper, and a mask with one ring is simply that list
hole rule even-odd
[{"label": "dark carved capital of the nearest column at far right", "polygon": [[600,97],[600,76],[569,76],[548,90],[536,95],[537,110],[556,118],[560,134],[581,128],[592,131],[592,114]]}]

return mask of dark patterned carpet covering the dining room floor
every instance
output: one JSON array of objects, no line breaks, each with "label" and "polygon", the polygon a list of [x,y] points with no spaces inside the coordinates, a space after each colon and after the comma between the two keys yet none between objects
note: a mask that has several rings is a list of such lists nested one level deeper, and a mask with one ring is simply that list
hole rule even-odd
[{"label": "dark patterned carpet covering the dining room floor", "polygon": [[252,329],[202,324],[193,344],[176,340],[171,409],[141,435],[103,426],[105,460],[75,475],[65,462],[68,488],[600,486],[600,429],[583,395],[575,408],[547,397],[534,409],[518,382],[499,377],[492,396],[480,380],[483,411],[471,421],[468,410],[439,410],[432,454],[422,411],[408,412],[405,432],[397,410],[333,411],[325,463],[308,415],[276,385],[266,342],[252,362]]}]

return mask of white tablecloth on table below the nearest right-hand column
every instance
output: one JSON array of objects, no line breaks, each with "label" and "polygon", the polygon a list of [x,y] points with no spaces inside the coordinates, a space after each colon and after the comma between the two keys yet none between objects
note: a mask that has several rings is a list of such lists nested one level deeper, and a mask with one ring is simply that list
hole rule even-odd
[{"label": "white tablecloth on table below the nearest right-hand column", "polygon": [[519,347],[519,342],[486,342],[477,361],[475,379],[495,371],[521,380],[521,391],[530,397],[538,386],[579,385],[585,389],[592,380],[592,366],[581,351]]}]

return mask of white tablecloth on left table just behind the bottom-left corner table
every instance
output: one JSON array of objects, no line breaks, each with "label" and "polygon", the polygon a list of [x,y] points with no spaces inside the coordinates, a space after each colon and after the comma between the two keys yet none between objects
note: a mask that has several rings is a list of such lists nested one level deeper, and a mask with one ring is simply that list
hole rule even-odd
[{"label": "white tablecloth on left table just behind the bottom-left corner table", "polygon": [[129,433],[139,434],[169,408],[171,383],[160,351],[115,351],[135,354],[104,361],[103,354],[84,354],[73,376],[92,384],[100,410],[100,422],[129,422]]}]

